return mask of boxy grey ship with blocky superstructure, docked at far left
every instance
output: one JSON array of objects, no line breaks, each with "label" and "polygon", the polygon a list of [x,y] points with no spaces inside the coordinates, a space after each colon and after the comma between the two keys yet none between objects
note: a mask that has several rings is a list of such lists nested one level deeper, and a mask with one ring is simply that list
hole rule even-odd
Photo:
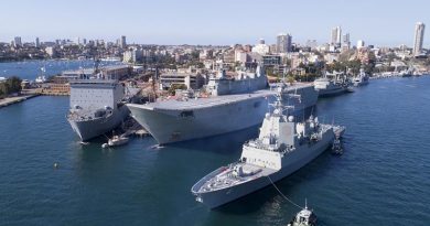
[{"label": "boxy grey ship with blocky superstructure, docked at far left", "polygon": [[129,116],[121,103],[125,88],[118,79],[97,77],[74,79],[69,84],[67,121],[82,141],[114,130]]}]

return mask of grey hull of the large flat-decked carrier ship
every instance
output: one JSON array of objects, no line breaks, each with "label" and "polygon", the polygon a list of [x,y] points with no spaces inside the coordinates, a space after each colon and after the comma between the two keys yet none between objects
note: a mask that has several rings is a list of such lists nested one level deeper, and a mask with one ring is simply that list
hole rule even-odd
[{"label": "grey hull of the large flat-decked carrier ship", "polygon": [[[294,100],[295,109],[292,115],[300,117],[309,115],[316,104],[316,99],[318,94],[314,93],[307,94],[301,100]],[[262,122],[266,112],[269,111],[269,103],[273,100],[275,96],[272,95],[255,95],[240,101],[186,110],[148,108],[133,104],[127,106],[132,117],[160,144],[166,144],[258,126]],[[180,117],[182,112],[189,112],[192,116]]]}]

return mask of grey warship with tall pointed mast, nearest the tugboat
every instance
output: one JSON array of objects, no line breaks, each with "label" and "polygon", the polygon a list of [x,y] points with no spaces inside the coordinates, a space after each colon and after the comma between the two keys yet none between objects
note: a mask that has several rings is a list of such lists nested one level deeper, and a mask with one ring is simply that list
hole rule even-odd
[{"label": "grey warship with tall pointed mast, nearest the tugboat", "polygon": [[275,110],[265,116],[259,137],[243,146],[240,159],[192,186],[197,202],[215,208],[256,192],[290,175],[332,144],[334,126],[320,123],[313,116],[297,122],[284,110],[277,100]]}]

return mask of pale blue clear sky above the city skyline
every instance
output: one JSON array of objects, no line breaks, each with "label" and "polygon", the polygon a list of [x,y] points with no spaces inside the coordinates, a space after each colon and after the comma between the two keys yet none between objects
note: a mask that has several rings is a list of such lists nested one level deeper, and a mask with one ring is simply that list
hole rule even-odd
[{"label": "pale blue clear sky above the city skyline", "polygon": [[126,35],[139,44],[230,45],[290,33],[295,43],[322,44],[341,25],[353,44],[411,46],[415,24],[430,25],[429,9],[429,0],[2,0],[0,41]]}]

